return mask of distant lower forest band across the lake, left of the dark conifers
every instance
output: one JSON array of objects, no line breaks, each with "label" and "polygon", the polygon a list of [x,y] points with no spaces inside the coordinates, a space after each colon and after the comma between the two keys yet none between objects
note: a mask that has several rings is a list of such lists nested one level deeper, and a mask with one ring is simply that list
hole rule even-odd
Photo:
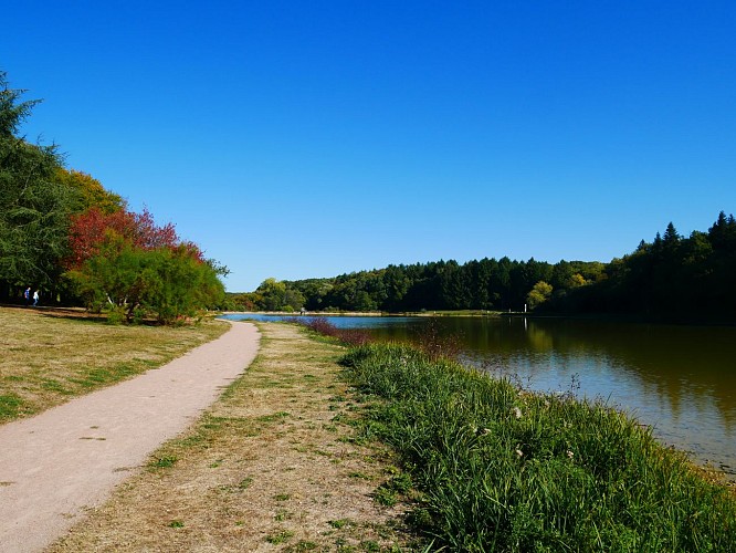
[{"label": "distant lower forest band across the lake, left of the dark conifers", "polygon": [[[274,310],[295,303],[285,301],[290,292],[308,311],[422,311],[497,310],[522,311],[527,294],[539,282],[549,282],[556,291],[587,285],[600,279],[603,263],[560,261],[551,265],[534,259],[483,259],[459,264],[439,261],[413,265],[343,274],[333,279],[276,281],[269,279],[233,301],[249,307]],[[299,303],[299,302],[296,302]]]}]

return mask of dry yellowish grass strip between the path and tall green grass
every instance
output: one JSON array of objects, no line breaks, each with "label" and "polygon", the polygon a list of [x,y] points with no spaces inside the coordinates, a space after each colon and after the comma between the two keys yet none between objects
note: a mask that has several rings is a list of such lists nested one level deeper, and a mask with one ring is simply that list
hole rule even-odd
[{"label": "dry yellowish grass strip between the path and tall green grass", "polygon": [[375,500],[388,453],[341,421],[343,349],[260,327],[249,371],[52,552],[408,550],[401,503]]}]

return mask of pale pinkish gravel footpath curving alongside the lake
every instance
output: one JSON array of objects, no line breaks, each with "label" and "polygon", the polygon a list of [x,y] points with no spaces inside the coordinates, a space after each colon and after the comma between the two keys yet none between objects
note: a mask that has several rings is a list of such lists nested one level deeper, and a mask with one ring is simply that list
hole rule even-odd
[{"label": "pale pinkish gravel footpath curving alongside the lake", "polygon": [[259,341],[231,323],[157,369],[0,426],[0,551],[40,551],[101,504],[248,368]]}]

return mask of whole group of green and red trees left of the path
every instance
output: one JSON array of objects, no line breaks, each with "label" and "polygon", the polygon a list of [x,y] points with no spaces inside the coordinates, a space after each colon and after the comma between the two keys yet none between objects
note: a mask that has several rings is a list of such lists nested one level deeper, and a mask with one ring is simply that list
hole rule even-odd
[{"label": "whole group of green and red trees left of the path", "polygon": [[44,303],[85,305],[111,320],[171,323],[224,298],[227,269],[174,225],[136,213],[92,176],[69,169],[56,145],[19,135],[39,101],[0,72],[0,301],[28,288]]}]

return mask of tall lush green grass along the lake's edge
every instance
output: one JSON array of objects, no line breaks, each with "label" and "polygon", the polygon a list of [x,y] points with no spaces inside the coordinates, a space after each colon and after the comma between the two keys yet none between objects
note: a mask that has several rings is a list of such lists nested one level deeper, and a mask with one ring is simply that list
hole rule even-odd
[{"label": "tall lush green grass along the lake's edge", "polygon": [[523,392],[396,345],[356,348],[359,428],[399,453],[414,528],[452,551],[736,551],[736,500],[601,403]]}]

